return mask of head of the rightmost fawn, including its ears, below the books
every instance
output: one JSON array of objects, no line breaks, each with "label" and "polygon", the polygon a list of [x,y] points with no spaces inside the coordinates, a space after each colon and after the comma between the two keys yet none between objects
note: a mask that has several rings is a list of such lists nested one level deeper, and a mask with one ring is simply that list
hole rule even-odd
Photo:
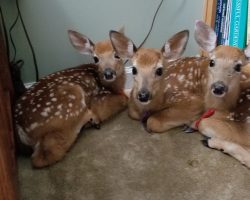
[{"label": "head of the rightmost fawn, including its ears, below the books", "polygon": [[244,51],[231,46],[216,47],[216,33],[207,24],[197,21],[195,39],[210,57],[208,89],[216,97],[224,97],[239,88],[241,67],[247,63],[249,47]]}]

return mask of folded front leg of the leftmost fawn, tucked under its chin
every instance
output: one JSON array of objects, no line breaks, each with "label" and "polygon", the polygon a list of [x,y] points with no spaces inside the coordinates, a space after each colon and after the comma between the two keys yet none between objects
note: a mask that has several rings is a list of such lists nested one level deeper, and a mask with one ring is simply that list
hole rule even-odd
[{"label": "folded front leg of the leftmost fawn, tucked under its chin", "polygon": [[98,95],[91,102],[91,110],[102,122],[109,117],[125,110],[128,104],[128,97],[123,94]]}]

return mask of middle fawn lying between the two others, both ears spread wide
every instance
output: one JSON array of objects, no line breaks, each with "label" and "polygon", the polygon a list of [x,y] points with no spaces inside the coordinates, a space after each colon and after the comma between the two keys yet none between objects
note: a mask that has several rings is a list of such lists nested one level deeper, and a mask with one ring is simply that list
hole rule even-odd
[{"label": "middle fawn lying between the two others, both ears spread wide", "polygon": [[137,49],[132,40],[116,31],[110,39],[116,53],[133,63],[134,85],[128,103],[129,116],[142,120],[147,131],[164,132],[191,124],[204,110],[205,57],[180,58],[189,31],[172,36],[161,50]]}]

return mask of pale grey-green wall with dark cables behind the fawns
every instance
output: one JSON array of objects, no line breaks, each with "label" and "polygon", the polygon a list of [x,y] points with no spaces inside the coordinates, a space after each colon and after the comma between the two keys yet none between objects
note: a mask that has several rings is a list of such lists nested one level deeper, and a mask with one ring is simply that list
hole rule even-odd
[{"label": "pale grey-green wall with dark cables behind the fawns", "polygon": [[[15,0],[0,0],[0,3],[9,27],[16,13]],[[110,29],[125,26],[127,36],[139,45],[149,30],[160,0],[19,0],[19,3],[42,77],[91,61],[71,47],[68,29],[75,29],[95,42],[107,38]],[[194,21],[202,18],[202,12],[201,0],[164,0],[144,46],[160,48],[174,33],[189,29],[190,41],[185,55],[197,54],[193,27]],[[14,39],[18,58],[25,60],[22,70],[24,81],[33,81],[31,51],[20,23],[14,30]]]}]

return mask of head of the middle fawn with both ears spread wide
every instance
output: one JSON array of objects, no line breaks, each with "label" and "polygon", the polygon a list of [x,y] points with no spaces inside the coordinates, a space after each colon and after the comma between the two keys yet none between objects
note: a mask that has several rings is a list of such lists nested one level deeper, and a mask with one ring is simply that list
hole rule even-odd
[{"label": "head of the middle fawn with both ears spread wide", "polygon": [[130,59],[133,68],[134,84],[132,98],[140,104],[150,103],[159,93],[161,78],[164,72],[164,62],[175,60],[183,53],[189,37],[188,31],[182,31],[171,37],[161,50],[137,49],[129,38],[116,31],[110,32],[111,43],[116,53]]}]

